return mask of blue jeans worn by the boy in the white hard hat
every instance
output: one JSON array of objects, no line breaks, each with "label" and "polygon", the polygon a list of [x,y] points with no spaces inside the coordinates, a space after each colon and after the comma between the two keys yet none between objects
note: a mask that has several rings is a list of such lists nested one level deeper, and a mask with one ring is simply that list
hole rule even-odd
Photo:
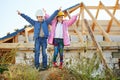
[{"label": "blue jeans worn by the boy in the white hard hat", "polygon": [[40,63],[39,63],[39,56],[40,56],[40,46],[42,47],[42,66],[44,68],[47,67],[47,53],[46,53],[46,48],[47,48],[47,38],[45,37],[38,37],[35,39],[35,67],[39,68]]}]

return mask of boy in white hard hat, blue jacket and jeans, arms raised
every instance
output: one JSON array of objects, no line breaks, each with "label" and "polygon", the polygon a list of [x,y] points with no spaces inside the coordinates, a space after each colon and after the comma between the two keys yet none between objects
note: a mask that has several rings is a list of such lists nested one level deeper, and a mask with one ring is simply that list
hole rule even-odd
[{"label": "boy in white hard hat, blue jacket and jeans, arms raised", "polygon": [[[60,9],[59,9],[60,10]],[[18,15],[22,16],[26,21],[28,21],[31,25],[34,26],[34,40],[35,40],[35,59],[34,59],[34,65],[36,69],[39,69],[40,63],[39,63],[39,56],[40,56],[40,46],[42,47],[42,69],[47,69],[47,54],[46,54],[46,48],[47,48],[47,38],[49,35],[48,32],[48,24],[51,23],[51,21],[54,19],[54,17],[58,14],[59,10],[56,10],[50,18],[44,19],[44,13],[42,10],[38,10],[36,12],[36,18],[37,21],[31,19],[25,14],[18,12]]]}]

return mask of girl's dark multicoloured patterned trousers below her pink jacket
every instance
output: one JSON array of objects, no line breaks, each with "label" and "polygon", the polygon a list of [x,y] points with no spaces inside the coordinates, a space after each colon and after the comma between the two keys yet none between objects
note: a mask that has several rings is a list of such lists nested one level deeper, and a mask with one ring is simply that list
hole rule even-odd
[{"label": "girl's dark multicoloured patterned trousers below her pink jacket", "polygon": [[56,62],[58,53],[60,55],[60,62],[63,62],[63,51],[64,51],[63,39],[54,38],[53,44],[54,44],[53,62]]}]

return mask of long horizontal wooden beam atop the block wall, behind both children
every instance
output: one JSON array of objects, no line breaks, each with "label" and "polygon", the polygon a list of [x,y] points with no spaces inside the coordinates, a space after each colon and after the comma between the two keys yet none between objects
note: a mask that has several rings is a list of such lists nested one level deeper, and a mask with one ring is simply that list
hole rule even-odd
[{"label": "long horizontal wooden beam atop the block wall, behind both children", "polygon": [[[101,47],[118,47],[120,46],[120,42],[98,42]],[[71,42],[70,46],[66,46],[65,49],[80,49],[86,47],[95,47],[93,42]],[[23,49],[30,49],[34,48],[33,43],[0,43],[0,49],[12,49],[12,48],[23,48]],[[48,49],[53,49],[52,45],[48,45]]]}]

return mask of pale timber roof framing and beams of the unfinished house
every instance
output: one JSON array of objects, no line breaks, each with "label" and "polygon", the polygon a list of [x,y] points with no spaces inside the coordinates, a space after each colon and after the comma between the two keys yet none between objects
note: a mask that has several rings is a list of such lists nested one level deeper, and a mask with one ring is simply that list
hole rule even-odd
[{"label": "pale timber roof framing and beams of the unfinished house", "polygon": [[[120,42],[112,41],[110,36],[120,36],[120,21],[115,17],[117,10],[120,10],[119,0],[116,0],[114,6],[106,6],[101,1],[98,6],[86,6],[84,3],[76,4],[70,8],[67,8],[64,11],[65,16],[71,18],[71,13],[79,9],[79,17],[75,24],[69,28],[70,35],[77,36],[79,39],[77,42],[71,42],[69,47],[65,47],[65,51],[80,51],[84,52],[86,44],[88,49],[98,50],[98,54],[101,57],[101,61],[108,68],[105,58],[102,54],[103,50],[119,50]],[[96,10],[96,15],[93,15],[90,10]],[[97,20],[100,10],[104,10],[109,16],[110,20]],[[113,12],[111,12],[112,10]],[[85,13],[91,18],[91,20],[85,19]],[[94,17],[95,16],[95,17]],[[33,27],[30,28],[30,25],[24,27],[21,30],[16,30],[12,34],[7,34],[7,36],[0,38],[0,53],[2,51],[7,51],[13,48],[24,48],[25,50],[21,51],[31,51],[30,48],[34,48],[34,44],[29,42],[28,36],[33,33]],[[24,35],[24,43],[18,43],[18,36]],[[103,41],[98,42],[96,36],[100,35],[103,37]],[[85,40],[84,36],[91,37],[90,41]],[[51,52],[53,47],[48,45],[48,51]],[[120,56],[119,56],[120,58]]]}]

